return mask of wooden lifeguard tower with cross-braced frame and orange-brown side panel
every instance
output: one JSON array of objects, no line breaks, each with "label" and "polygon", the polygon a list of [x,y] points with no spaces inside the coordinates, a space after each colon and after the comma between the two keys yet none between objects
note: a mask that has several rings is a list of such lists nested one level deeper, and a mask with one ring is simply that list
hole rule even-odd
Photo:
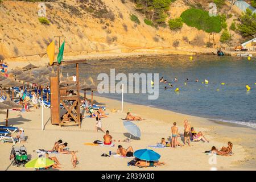
[{"label": "wooden lifeguard tower with cross-braced frame and orange-brown side panel", "polygon": [[[61,61],[60,64],[53,63],[52,65],[57,65],[57,76],[50,77],[51,85],[51,123],[52,125],[59,126],[79,126],[81,127],[80,118],[80,85],[79,85],[79,63],[84,63],[85,60],[76,61]],[[76,88],[72,87],[72,90],[76,91],[75,95],[67,95],[67,90],[69,86],[64,86],[60,88],[60,69],[59,65],[76,65]],[[67,102],[68,101],[68,102]],[[72,104],[70,104],[72,101]],[[63,117],[60,116],[60,105],[63,109],[67,110]]]}]

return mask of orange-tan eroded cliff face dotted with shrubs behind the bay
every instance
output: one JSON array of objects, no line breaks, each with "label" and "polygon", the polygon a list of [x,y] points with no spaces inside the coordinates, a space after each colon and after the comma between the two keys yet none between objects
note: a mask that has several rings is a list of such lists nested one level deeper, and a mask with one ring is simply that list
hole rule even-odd
[{"label": "orange-tan eroded cliff face dotted with shrubs behind the bay", "polygon": [[[65,56],[95,52],[161,53],[168,50],[200,50],[209,41],[207,33],[185,24],[180,31],[148,26],[143,21],[143,15],[135,11],[130,1],[52,1],[45,2],[49,25],[39,22],[39,2],[2,2],[0,55],[6,59],[46,59],[46,47],[53,39],[56,40],[57,52],[59,39],[54,36],[66,37]],[[171,18],[176,18],[188,8],[183,1],[177,0],[170,7]],[[132,22],[130,14],[137,15],[141,24]],[[220,35],[216,34],[216,43],[219,38]]]}]

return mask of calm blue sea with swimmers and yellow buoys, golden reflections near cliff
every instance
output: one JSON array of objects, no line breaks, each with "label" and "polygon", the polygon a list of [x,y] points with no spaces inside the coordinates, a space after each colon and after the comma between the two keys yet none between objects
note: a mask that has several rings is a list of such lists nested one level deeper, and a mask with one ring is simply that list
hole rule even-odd
[{"label": "calm blue sea with swimmers and yellow buoys, golden reflections near cliff", "polygon": [[[189,60],[189,56],[165,56],[87,61],[80,64],[80,80],[92,77],[97,84],[98,74],[109,75],[111,68],[115,68],[115,74],[159,73],[159,78],[164,77],[174,86],[164,90],[168,84],[159,83],[158,100],[148,100],[147,94],[125,94],[124,101],[256,127],[255,58],[249,61],[246,57],[193,56]],[[72,75],[75,67],[64,67],[63,75],[67,76],[67,72]],[[186,78],[189,81],[185,85]],[[202,84],[205,79],[208,85]],[[251,87],[249,92],[246,85]],[[180,91],[175,92],[175,88]],[[98,95],[121,100],[121,94]]]}]

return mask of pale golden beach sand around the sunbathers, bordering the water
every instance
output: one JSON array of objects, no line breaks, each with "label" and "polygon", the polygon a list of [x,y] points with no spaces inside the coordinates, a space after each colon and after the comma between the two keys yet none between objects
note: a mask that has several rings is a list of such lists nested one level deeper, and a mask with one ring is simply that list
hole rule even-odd
[{"label": "pale golden beach sand around the sunbathers, bordering the water", "polygon": [[[60,170],[255,170],[256,169],[256,135],[255,130],[249,127],[233,125],[230,123],[222,123],[210,121],[205,118],[195,117],[191,115],[174,113],[168,110],[157,109],[154,107],[135,105],[124,103],[124,111],[111,113],[110,110],[121,110],[121,102],[110,100],[104,97],[94,96],[94,100],[98,105],[107,107],[106,113],[108,118],[102,119],[102,126],[105,130],[109,130],[110,135],[115,140],[123,140],[129,137],[121,118],[126,117],[127,111],[134,115],[145,118],[144,121],[134,121],[141,129],[142,136],[140,140],[133,139],[132,142],[114,142],[115,147],[99,147],[85,146],[84,143],[93,142],[94,140],[102,140],[104,133],[98,131],[95,133],[95,118],[85,118],[82,120],[81,129],[79,127],[60,127],[51,125],[50,109],[44,109],[44,126],[42,126],[42,110],[32,109],[30,113],[19,113],[19,111],[10,111],[9,125],[22,127],[25,135],[28,137],[26,143],[16,144],[17,146],[24,144],[28,150],[28,154],[32,159],[38,157],[33,150],[45,149],[51,150],[53,144],[62,139],[68,142],[69,150],[78,150],[77,158],[79,165],[76,169],[72,168],[71,155],[67,154],[50,154],[56,156],[62,164]],[[1,114],[0,125],[5,125],[5,115]],[[184,119],[191,122],[191,126],[196,131],[202,131],[210,140],[209,143],[192,142],[192,146],[183,146],[180,148],[151,148],[148,145],[155,145],[160,142],[162,137],[170,138],[171,126],[173,122],[177,122],[180,133],[184,130]],[[179,138],[180,140],[180,138]],[[212,146],[220,149],[227,146],[227,143],[233,143],[232,156],[217,156],[217,164],[209,164],[211,156],[205,155],[204,151],[210,150]],[[181,142],[181,140],[180,140]],[[127,166],[129,158],[110,158],[102,157],[101,154],[109,154],[109,151],[116,152],[117,146],[121,144],[123,147],[133,146],[134,150],[149,148],[161,155],[160,162],[166,165],[160,167],[138,168]],[[9,160],[12,143],[0,144],[0,170],[34,170],[32,168],[16,167],[11,165]]]}]

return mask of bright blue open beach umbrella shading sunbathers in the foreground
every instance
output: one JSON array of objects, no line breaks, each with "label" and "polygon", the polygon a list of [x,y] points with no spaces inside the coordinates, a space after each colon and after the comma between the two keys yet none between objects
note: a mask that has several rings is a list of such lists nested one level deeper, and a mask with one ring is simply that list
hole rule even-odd
[{"label": "bright blue open beach umbrella shading sunbathers in the foreground", "polygon": [[146,161],[155,161],[160,159],[160,154],[147,148],[135,151],[134,156]]}]

